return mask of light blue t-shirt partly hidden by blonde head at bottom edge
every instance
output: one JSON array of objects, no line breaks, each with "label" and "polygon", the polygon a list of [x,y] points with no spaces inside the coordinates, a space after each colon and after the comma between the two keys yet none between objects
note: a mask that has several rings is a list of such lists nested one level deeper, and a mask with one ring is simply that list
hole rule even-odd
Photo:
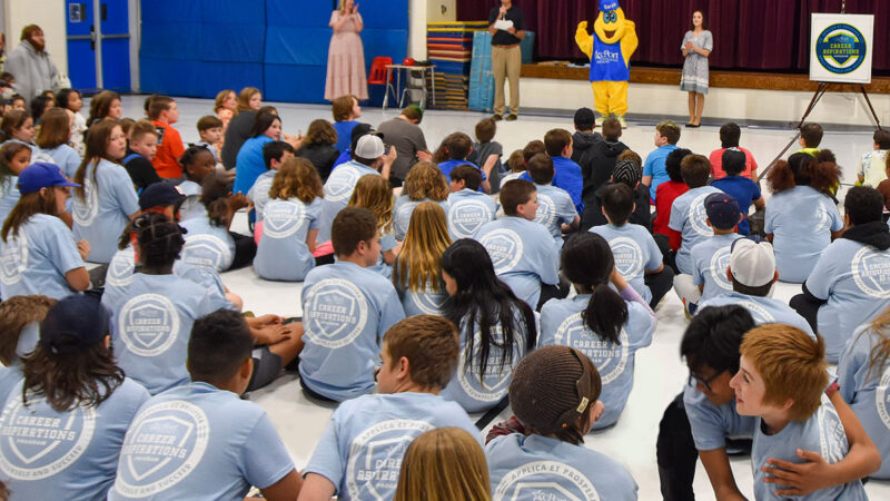
[{"label": "light blue t-shirt partly hidden by blonde head at bottom edge", "polygon": [[482,445],[463,409],[432,393],[364,395],[334,411],[304,477],[329,480],[339,500],[393,499],[408,445],[422,433],[456,426]]}]

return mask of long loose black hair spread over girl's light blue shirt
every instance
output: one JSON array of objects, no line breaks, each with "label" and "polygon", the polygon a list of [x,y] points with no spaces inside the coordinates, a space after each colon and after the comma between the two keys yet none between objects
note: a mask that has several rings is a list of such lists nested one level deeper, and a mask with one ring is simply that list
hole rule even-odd
[{"label": "long loose black hair spread over girl's light blue shirt", "polygon": [[[494,273],[494,265],[488,252],[476,240],[462,238],[452,244],[442,255],[442,271],[451,275],[457,283],[457,292],[445,304],[444,316],[462,326],[468,333],[466,340],[465,367],[474,365],[473,333],[478,326],[479,346],[478,360],[479,377],[483,377],[492,346],[503,353],[498,370],[512,364],[514,345],[518,344],[517,337],[525,331],[525,351],[534,350],[537,331],[532,308],[513,294],[513,291],[503,283]],[[521,313],[518,322],[515,312]],[[495,327],[500,326],[503,337],[498,340]]]}]

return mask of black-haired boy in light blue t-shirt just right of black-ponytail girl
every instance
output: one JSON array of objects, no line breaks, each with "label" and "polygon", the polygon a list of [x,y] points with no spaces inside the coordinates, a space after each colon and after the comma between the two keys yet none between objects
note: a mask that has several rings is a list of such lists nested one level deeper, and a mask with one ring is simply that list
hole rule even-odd
[{"label": "black-haired boy in light blue t-shirt just right of black-ponytail girl", "polygon": [[661,250],[646,228],[627,223],[633,213],[633,191],[626,185],[609,185],[603,194],[603,214],[607,225],[590,230],[609,243],[615,261],[615,271],[634,291],[655,307],[673,285],[674,272],[664,267]]}]

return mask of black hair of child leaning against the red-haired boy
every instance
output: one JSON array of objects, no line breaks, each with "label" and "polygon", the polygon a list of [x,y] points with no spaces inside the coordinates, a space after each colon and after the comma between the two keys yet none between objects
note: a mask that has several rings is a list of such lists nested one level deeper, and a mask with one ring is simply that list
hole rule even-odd
[{"label": "black hair of child leaning against the red-haired boy", "polygon": [[680,356],[693,373],[708,366],[714,374],[735,374],[742,337],[755,326],[751,313],[738,304],[701,308],[683,333]]}]

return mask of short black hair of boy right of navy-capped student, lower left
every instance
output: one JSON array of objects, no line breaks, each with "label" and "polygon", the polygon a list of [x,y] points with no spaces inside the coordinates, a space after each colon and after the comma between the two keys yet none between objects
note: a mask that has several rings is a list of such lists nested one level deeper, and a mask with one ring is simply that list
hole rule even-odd
[{"label": "short black hair of boy right of navy-capped student, lower left", "polygon": [[228,382],[254,350],[254,336],[240,313],[220,308],[195,321],[188,340],[191,381]]}]

